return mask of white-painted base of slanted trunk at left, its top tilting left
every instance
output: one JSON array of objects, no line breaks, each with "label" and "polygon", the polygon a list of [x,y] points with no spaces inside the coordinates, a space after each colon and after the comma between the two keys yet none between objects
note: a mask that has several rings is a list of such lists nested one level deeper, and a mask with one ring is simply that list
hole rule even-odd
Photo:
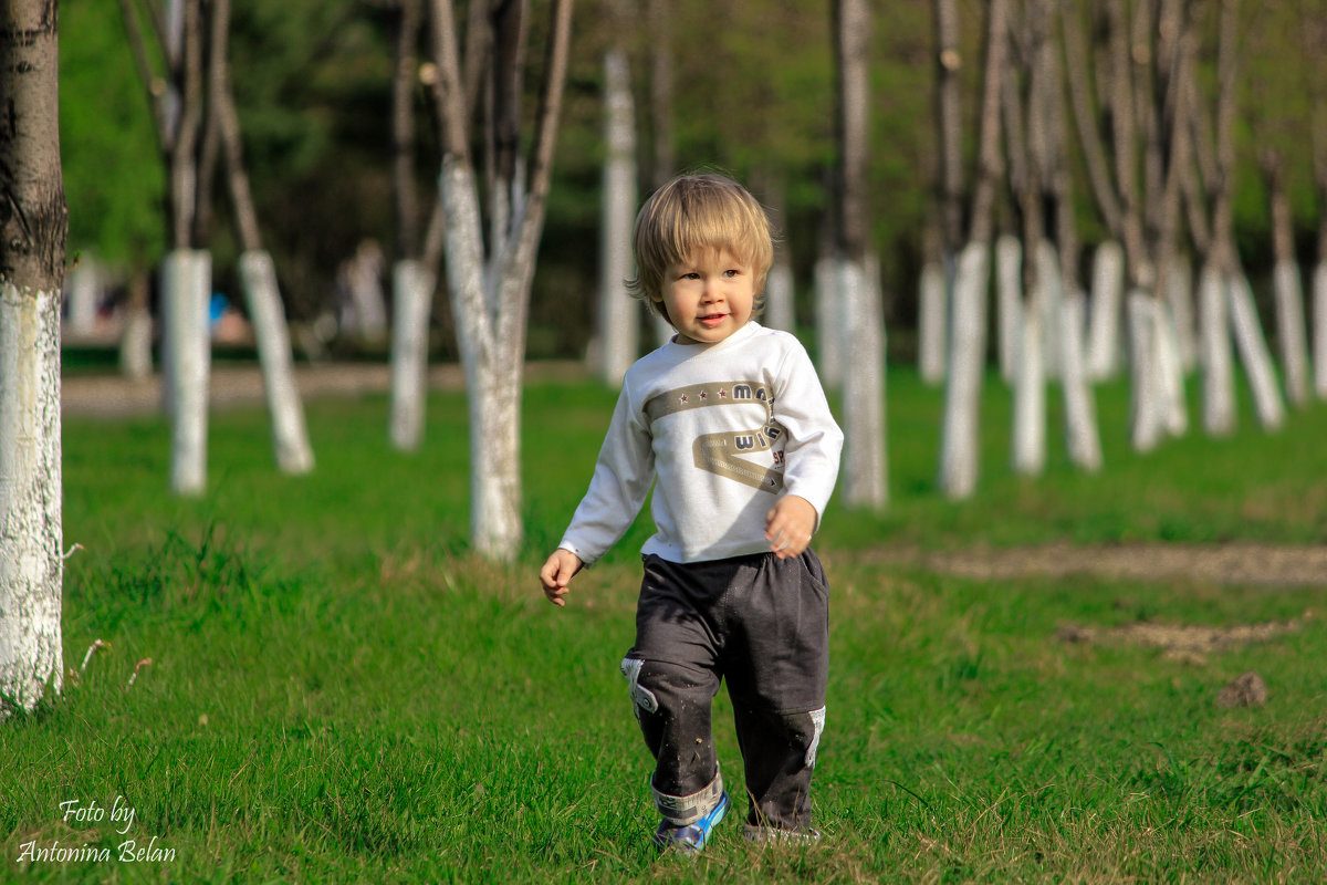
[{"label": "white-painted base of slanted trunk at left, its top tilting left", "polygon": [[295,385],[291,332],[281,308],[276,265],[265,249],[252,249],[240,253],[239,269],[263,369],[263,390],[272,421],[272,454],[281,472],[307,474],[313,470],[313,450],[304,426],[304,403]]}]

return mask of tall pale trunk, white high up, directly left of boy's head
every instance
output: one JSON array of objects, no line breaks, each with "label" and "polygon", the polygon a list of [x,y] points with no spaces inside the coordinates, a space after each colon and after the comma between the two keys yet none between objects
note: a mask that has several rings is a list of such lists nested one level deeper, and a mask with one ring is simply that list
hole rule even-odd
[{"label": "tall pale trunk, white high up, directly left of boy's head", "polygon": [[641,305],[626,296],[632,276],[632,224],[636,216],[636,109],[626,52],[604,56],[602,222],[598,256],[600,377],[622,383],[640,350]]}]

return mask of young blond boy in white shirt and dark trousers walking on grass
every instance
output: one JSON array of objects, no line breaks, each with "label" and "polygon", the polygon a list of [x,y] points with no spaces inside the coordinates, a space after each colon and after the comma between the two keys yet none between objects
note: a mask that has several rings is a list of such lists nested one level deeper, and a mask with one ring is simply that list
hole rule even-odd
[{"label": "young blond boy in white shirt and dark trousers walking on grass", "polygon": [[839,431],[795,337],[752,317],[774,253],[739,184],[685,175],[641,208],[630,283],[677,329],[626,373],[585,498],[539,580],[555,605],[632,525],[654,484],[636,645],[622,661],[664,820],[701,851],[729,808],[710,705],[727,679],[748,839],[816,839],[829,590],[808,549],[839,472]]}]

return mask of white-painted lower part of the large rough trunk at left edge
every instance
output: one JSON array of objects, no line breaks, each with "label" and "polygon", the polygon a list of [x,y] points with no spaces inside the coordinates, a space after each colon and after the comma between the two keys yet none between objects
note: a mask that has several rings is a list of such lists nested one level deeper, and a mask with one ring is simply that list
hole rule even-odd
[{"label": "white-painted lower part of the large rough trunk at left edge", "polygon": [[0,281],[0,695],[24,710],[64,686],[61,494],[60,293]]}]

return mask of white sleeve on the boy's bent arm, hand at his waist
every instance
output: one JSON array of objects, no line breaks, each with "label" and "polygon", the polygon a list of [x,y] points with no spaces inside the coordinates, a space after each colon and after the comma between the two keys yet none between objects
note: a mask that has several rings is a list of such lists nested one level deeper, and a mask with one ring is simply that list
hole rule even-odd
[{"label": "white sleeve on the boy's bent arm, hand at his waist", "polygon": [[775,379],[774,417],[787,431],[784,491],[811,502],[824,515],[839,479],[843,431],[825,399],[816,368],[800,342],[791,342]]}]

